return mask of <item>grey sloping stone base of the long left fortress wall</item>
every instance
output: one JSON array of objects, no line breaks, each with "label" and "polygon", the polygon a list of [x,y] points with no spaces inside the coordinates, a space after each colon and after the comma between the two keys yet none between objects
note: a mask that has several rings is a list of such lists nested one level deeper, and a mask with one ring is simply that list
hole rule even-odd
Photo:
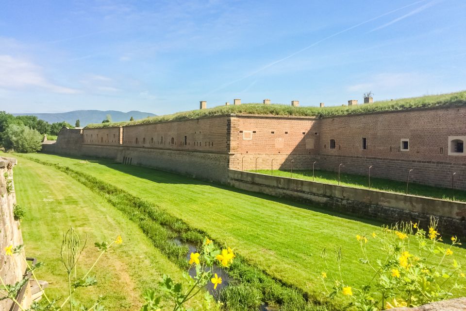
[{"label": "grey sloping stone base of the long left fortress wall", "polygon": [[140,165],[180,173],[209,181],[226,182],[228,155],[186,150],[141,147],[83,145],[81,156],[115,159],[128,165]]}]

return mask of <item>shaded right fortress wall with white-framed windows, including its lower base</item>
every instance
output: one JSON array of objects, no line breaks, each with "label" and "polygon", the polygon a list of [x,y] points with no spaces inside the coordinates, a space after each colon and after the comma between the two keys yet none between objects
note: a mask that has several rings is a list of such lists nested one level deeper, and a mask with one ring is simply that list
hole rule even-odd
[{"label": "shaded right fortress wall with white-framed windows, including its lower base", "polygon": [[[466,107],[398,111],[324,118],[321,120],[320,159],[316,167],[342,172],[466,189],[466,154],[449,155],[449,137],[466,136]],[[362,149],[366,138],[367,149]],[[400,150],[401,139],[409,150]],[[335,139],[335,149],[330,149]]]}]

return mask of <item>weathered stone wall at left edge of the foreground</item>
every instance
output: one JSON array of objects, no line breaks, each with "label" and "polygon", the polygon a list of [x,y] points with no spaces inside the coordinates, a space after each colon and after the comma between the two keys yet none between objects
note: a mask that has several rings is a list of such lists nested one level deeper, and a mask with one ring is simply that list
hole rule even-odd
[{"label": "weathered stone wall at left edge of the foreground", "polygon": [[[13,166],[17,160],[0,157],[0,276],[6,284],[15,284],[23,278],[26,271],[25,262],[17,255],[7,256],[5,247],[23,244],[19,221],[13,216],[13,207],[16,204],[15,187],[13,184]],[[7,184],[12,187],[7,190]],[[24,249],[23,249],[24,256]],[[29,288],[29,286],[27,287]],[[31,295],[26,292],[22,301],[23,307],[28,308]],[[10,310],[13,301],[5,299],[0,301],[0,310]]]}]

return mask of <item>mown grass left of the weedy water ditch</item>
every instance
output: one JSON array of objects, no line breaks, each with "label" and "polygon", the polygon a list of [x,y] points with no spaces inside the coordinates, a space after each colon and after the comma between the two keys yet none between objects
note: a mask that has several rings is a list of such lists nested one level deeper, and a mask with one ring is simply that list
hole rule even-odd
[{"label": "mown grass left of the weedy water ditch", "polygon": [[136,224],[67,174],[18,157],[14,181],[17,204],[26,208],[21,222],[26,255],[45,263],[37,274],[50,283],[49,296],[67,297],[60,247],[69,226],[87,234],[81,275],[99,255],[94,242],[118,234],[123,238],[123,244],[114,244],[94,269],[98,284],[76,292],[85,305],[102,294],[106,310],[139,310],[142,292],[155,288],[164,274],[183,280],[181,270],[152,246]]}]

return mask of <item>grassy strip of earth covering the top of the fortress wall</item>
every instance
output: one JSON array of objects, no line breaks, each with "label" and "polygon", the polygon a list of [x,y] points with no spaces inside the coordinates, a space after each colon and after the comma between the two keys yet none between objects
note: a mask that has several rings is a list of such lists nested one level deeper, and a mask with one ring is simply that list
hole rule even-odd
[{"label": "grassy strip of earth covering the top of the fortress wall", "polygon": [[466,91],[429,95],[413,98],[403,98],[394,101],[380,101],[373,104],[359,104],[355,106],[300,106],[292,107],[284,104],[241,104],[229,106],[217,106],[209,109],[198,109],[178,112],[171,115],[150,117],[135,121],[110,122],[89,124],[87,128],[111,127],[132,124],[157,123],[172,120],[197,119],[208,116],[226,115],[231,113],[259,114],[259,115],[282,115],[282,116],[306,116],[306,117],[332,117],[354,115],[362,113],[374,113],[383,111],[406,110],[414,108],[428,108],[438,106],[466,105]]}]

